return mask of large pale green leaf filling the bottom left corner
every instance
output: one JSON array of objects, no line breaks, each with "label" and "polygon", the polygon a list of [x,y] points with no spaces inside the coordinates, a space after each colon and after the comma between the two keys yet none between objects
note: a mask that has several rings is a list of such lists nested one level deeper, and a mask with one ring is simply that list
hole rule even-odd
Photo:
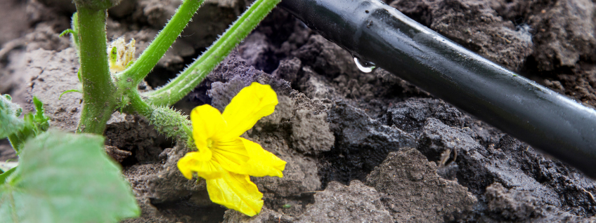
[{"label": "large pale green leaf filling the bottom left corner", "polygon": [[58,130],[28,140],[15,173],[0,184],[0,222],[118,222],[140,215],[103,142]]}]

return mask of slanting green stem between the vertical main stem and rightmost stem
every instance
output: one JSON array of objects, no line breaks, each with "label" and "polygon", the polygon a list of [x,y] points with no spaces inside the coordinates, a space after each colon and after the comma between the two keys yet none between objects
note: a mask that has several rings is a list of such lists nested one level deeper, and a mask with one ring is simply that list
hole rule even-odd
[{"label": "slanting green stem between the vertical main stem and rightmost stem", "polygon": [[183,1],[160,34],[157,34],[155,40],[153,40],[129,68],[119,74],[119,78],[121,80],[131,78],[132,81],[127,82],[131,84],[131,86],[136,87],[138,83],[149,74],[151,69],[157,65],[157,62],[160,61],[171,44],[176,41],[176,38],[180,36],[184,27],[186,27],[190,19],[193,18],[193,15],[195,15],[204,1],[205,0]]}]

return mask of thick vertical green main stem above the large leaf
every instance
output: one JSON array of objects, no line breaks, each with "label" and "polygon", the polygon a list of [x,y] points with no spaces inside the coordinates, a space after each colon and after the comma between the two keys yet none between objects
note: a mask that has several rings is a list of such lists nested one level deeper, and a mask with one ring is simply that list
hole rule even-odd
[{"label": "thick vertical green main stem above the large leaf", "polygon": [[103,135],[116,106],[115,85],[108,68],[105,10],[77,5],[79,50],[83,83],[83,109],[77,133]]}]

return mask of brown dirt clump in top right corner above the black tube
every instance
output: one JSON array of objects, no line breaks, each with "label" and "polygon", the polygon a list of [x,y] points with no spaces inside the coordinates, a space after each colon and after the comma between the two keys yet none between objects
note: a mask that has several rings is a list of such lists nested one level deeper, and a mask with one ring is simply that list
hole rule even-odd
[{"label": "brown dirt clump in top right corner above the black tube", "polygon": [[594,62],[596,6],[592,1],[501,1],[494,8],[503,18],[522,18],[533,29],[532,56],[539,70],[576,67],[580,60]]}]

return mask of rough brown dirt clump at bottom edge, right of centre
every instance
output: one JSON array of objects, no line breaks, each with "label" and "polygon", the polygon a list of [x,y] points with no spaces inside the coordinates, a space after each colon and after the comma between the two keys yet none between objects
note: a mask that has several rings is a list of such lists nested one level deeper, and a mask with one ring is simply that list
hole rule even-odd
[{"label": "rough brown dirt clump at bottom edge, right of centre", "polygon": [[416,149],[391,152],[368,177],[396,222],[443,222],[472,212],[477,198],[458,182],[436,175]]}]

